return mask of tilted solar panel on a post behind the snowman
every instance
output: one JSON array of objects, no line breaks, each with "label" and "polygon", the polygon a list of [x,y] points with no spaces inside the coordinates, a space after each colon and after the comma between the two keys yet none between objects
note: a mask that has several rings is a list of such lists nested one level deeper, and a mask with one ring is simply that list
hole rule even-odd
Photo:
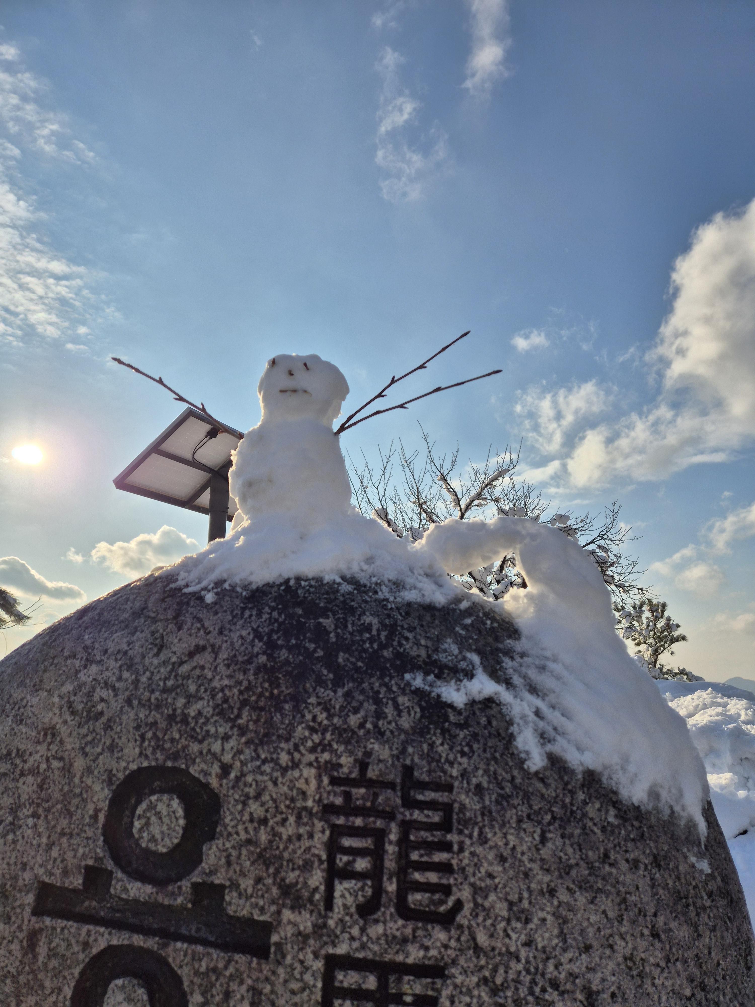
[{"label": "tilted solar panel on a post behind the snowman", "polygon": [[[241,431],[233,435],[224,430],[217,432],[196,409],[184,409],[113,482],[117,489],[128,493],[208,515],[212,472],[228,478],[231,452],[243,436]],[[233,521],[237,510],[232,496],[228,521]]]}]

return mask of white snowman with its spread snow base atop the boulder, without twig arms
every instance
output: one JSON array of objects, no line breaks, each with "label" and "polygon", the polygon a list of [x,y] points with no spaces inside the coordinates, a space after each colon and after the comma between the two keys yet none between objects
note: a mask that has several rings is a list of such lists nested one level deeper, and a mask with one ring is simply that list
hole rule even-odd
[{"label": "white snowman with its spread snow base atop the boulder, without twig arms", "polygon": [[[332,423],[348,385],[317,354],[278,354],[258,387],[262,419],[234,454],[231,535],[178,565],[193,590],[343,573],[402,581],[431,601],[455,594],[444,571],[351,507]],[[172,568],[175,572],[175,568]]]}]

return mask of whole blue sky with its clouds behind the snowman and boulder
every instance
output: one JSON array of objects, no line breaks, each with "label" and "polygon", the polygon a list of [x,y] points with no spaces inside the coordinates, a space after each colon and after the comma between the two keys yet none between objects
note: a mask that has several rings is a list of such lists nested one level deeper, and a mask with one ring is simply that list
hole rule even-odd
[{"label": "whole blue sky with its clouds behind the snowman and boulder", "polygon": [[622,501],[677,660],[755,678],[749,0],[0,19],[0,583],[42,602],[8,646],[206,537],[113,487],[180,410],[110,354],[246,429],[276,352],[333,361],[348,406],[471,328],[412,390],[501,375],[344,446],[523,438],[554,502]]}]

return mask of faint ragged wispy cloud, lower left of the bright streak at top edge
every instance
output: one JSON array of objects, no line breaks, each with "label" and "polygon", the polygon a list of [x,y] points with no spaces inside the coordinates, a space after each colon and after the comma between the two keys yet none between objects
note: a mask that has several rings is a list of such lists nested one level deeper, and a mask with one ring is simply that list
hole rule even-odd
[{"label": "faint ragged wispy cloud, lower left of the bright streak at top edge", "polygon": [[385,175],[380,184],[389,202],[418,199],[448,156],[448,138],[437,125],[417,136],[414,146],[410,145],[407,134],[418,125],[422,103],[412,98],[401,83],[400,67],[405,61],[387,45],[375,64],[383,89],[374,160]]}]

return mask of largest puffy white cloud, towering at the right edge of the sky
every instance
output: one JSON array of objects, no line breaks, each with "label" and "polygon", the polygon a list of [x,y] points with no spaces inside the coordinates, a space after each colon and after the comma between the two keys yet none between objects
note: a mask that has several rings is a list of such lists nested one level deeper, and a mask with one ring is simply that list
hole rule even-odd
[{"label": "largest puffy white cloud, towering at the right edge of the sky", "polygon": [[[644,411],[575,433],[560,459],[572,486],[665,478],[755,439],[755,200],[698,228],[670,292],[648,354],[660,394]],[[530,419],[537,425],[537,410]]]}]

